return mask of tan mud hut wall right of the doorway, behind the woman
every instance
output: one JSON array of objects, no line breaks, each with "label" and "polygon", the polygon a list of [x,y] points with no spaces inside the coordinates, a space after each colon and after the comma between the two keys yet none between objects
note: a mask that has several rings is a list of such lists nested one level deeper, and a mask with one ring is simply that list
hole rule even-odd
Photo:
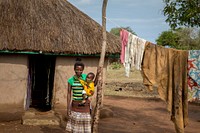
[{"label": "tan mud hut wall right of the doorway, behind the woman", "polygon": [[[83,73],[94,72],[96,74],[97,66],[99,65],[99,58],[82,57],[81,59],[85,64]],[[53,106],[55,110],[62,110],[66,109],[67,107],[67,79],[74,75],[74,63],[76,62],[75,60],[76,57],[57,57],[56,59],[53,94]],[[105,79],[107,61],[105,61],[104,66]]]}]

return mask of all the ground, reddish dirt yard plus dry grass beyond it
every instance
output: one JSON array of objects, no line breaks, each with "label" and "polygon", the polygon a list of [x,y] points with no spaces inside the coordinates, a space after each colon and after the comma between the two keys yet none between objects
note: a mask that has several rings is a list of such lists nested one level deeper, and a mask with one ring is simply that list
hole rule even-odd
[{"label": "all the ground, reddish dirt yard plus dry grass beyond it", "polygon": [[[166,104],[142,84],[139,72],[129,78],[110,70],[104,91],[104,111],[99,133],[175,133]],[[106,115],[107,114],[107,115]],[[189,103],[189,125],[185,133],[200,132],[200,105]],[[25,126],[21,121],[0,122],[0,133],[65,133],[58,126]]]}]

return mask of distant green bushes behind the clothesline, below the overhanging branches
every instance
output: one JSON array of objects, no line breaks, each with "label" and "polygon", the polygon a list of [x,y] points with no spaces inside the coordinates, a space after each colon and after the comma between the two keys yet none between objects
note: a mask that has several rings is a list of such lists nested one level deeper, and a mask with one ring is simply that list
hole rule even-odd
[{"label": "distant green bushes behind the clothesline, below the overhanging branches", "polygon": [[200,49],[200,29],[179,28],[164,31],[156,39],[158,45],[170,46],[176,49]]}]

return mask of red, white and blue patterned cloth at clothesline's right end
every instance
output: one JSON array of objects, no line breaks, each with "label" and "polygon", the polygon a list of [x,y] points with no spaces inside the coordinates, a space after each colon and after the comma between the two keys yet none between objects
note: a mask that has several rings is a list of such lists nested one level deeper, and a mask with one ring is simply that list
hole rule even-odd
[{"label": "red, white and blue patterned cloth at clothesline's right end", "polygon": [[188,55],[188,101],[200,100],[200,50]]}]

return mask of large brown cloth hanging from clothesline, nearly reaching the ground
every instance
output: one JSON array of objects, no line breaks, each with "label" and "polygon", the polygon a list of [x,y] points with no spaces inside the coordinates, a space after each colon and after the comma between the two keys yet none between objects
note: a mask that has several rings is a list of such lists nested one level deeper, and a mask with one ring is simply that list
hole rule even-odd
[{"label": "large brown cloth hanging from clothesline, nearly reaching the ground", "polygon": [[188,124],[187,58],[188,51],[147,42],[142,62],[143,83],[149,90],[158,89],[177,133],[184,133]]}]

